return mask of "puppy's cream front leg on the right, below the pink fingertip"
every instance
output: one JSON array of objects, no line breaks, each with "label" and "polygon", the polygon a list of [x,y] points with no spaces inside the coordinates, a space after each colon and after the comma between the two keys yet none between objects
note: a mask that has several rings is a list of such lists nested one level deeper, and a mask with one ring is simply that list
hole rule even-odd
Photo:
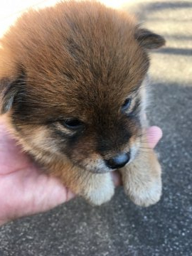
[{"label": "puppy's cream front leg on the right, below the pink fingertip", "polygon": [[124,191],[139,206],[150,206],[161,197],[161,166],[152,149],[144,149],[137,159],[120,170]]}]

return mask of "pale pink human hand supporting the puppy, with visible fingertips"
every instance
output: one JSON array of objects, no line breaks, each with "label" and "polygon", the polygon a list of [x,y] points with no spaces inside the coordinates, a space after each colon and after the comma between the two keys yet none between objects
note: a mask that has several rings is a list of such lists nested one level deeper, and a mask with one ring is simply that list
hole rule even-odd
[{"label": "pale pink human hand supporting the puppy, with visible fingertips", "polygon": [[[161,139],[159,127],[147,131],[149,146],[154,148]],[[121,184],[117,172],[114,184]],[[74,198],[75,194],[57,178],[43,174],[35,163],[11,139],[6,119],[0,117],[0,225],[16,218],[50,210]]]}]

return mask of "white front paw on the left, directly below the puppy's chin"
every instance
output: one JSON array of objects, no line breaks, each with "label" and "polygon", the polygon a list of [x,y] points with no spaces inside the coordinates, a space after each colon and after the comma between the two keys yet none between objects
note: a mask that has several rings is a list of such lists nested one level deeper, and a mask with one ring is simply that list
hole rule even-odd
[{"label": "white front paw on the left, directly below the puppy's chin", "polygon": [[111,174],[97,175],[102,176],[102,179],[92,184],[93,186],[85,192],[85,198],[92,205],[100,206],[102,203],[110,201],[114,195],[114,183]]}]

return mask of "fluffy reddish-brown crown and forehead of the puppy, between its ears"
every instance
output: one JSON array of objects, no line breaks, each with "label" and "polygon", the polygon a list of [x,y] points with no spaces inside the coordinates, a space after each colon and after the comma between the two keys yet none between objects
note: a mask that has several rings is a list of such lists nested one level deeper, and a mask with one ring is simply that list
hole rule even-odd
[{"label": "fluffy reddish-brown crown and forehead of the puppy, between its ears", "polygon": [[148,59],[134,38],[131,17],[88,2],[78,11],[74,8],[62,4],[33,11],[16,24],[11,48],[26,70],[28,103],[33,107],[66,112],[112,107],[146,73]]}]

